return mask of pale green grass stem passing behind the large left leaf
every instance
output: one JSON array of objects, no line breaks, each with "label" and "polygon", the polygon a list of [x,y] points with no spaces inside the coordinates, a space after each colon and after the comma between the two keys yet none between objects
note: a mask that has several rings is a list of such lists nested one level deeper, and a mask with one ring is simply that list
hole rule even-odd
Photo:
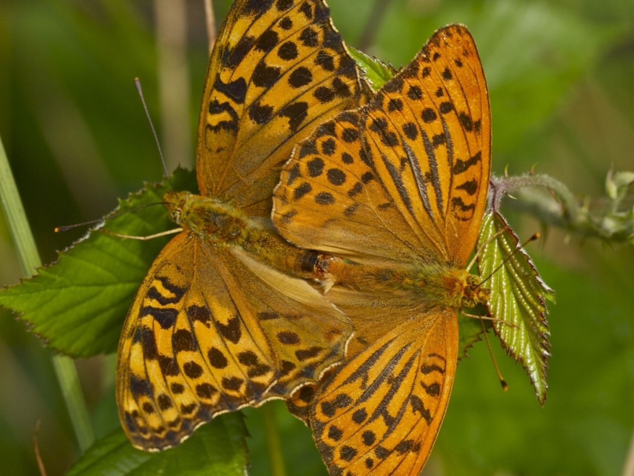
[{"label": "pale green grass stem passing behind the large left leaf", "polygon": [[[41,267],[42,260],[37,252],[36,242],[22,206],[22,199],[20,199],[18,187],[16,187],[13,173],[11,173],[2,138],[0,138],[0,202],[11,232],[11,239],[13,239],[18,258],[20,258],[22,274],[24,277],[30,277],[34,275],[37,267]],[[86,400],[84,400],[79,385],[77,369],[70,357],[54,355],[53,352],[50,355],[77,442],[81,451],[86,451],[94,442],[94,433],[88,416]]]}]

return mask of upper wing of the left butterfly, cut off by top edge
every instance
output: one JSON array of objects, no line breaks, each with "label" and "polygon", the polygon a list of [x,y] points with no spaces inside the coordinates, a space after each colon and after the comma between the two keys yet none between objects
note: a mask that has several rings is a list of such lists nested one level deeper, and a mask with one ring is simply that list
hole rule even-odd
[{"label": "upper wing of the left butterfly, cut off by top edge", "polygon": [[200,192],[268,216],[293,145],[317,121],[366,102],[368,91],[322,0],[236,1],[207,71]]}]

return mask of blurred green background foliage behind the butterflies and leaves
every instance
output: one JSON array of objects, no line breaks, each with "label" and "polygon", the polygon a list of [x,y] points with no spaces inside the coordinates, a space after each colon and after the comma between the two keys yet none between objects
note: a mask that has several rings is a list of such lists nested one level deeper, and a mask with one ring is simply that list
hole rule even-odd
[{"label": "blurred green background foliage behind the butterflies and leaves", "polygon": [[[161,3],[169,9],[175,2],[0,0],[0,136],[44,262],[84,233],[54,234],[55,226],[97,218],[143,180],[162,176],[135,76],[169,163],[193,162],[208,54],[203,0],[184,1],[180,21],[157,14]],[[375,3],[330,0],[333,21],[347,43],[397,67],[436,28],[469,26],[489,84],[496,173],[508,165],[519,174],[537,163],[538,172],[573,192],[597,197],[611,164],[634,170],[634,1]],[[229,5],[214,0],[217,25]],[[507,215],[521,237],[540,229],[534,218]],[[486,345],[478,343],[458,366],[427,476],[626,475],[634,429],[634,249],[552,229],[528,251],[557,291],[548,401],[542,409],[524,371],[493,340],[510,385],[501,392]],[[0,219],[0,284],[19,276]],[[48,352],[14,318],[0,313],[0,473],[39,474],[33,435],[41,420],[42,460],[49,476],[60,475],[79,450]],[[77,361],[98,436],[119,425],[113,362],[112,355]],[[287,473],[324,475],[307,428],[281,402],[268,405]],[[245,414],[250,474],[269,475],[262,409]]]}]

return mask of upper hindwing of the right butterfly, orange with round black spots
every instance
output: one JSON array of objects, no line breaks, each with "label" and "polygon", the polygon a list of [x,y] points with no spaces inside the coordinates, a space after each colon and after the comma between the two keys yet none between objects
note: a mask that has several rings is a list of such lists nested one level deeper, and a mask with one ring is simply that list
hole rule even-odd
[{"label": "upper hindwing of the right butterfly, orange with round black spots", "polygon": [[273,220],[304,248],[359,262],[416,261],[418,237],[399,227],[403,219],[365,154],[363,112],[340,113],[297,146],[274,192]]}]

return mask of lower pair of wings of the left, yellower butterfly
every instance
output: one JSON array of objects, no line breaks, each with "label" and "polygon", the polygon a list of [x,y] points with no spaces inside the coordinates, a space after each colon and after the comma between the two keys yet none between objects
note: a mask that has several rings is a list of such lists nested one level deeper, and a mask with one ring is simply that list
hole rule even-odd
[{"label": "lower pair of wings of the left, yellower butterfly", "polygon": [[184,232],[154,261],[124,324],[124,430],[157,451],[216,414],[290,395],[339,362],[347,322],[306,282]]}]

